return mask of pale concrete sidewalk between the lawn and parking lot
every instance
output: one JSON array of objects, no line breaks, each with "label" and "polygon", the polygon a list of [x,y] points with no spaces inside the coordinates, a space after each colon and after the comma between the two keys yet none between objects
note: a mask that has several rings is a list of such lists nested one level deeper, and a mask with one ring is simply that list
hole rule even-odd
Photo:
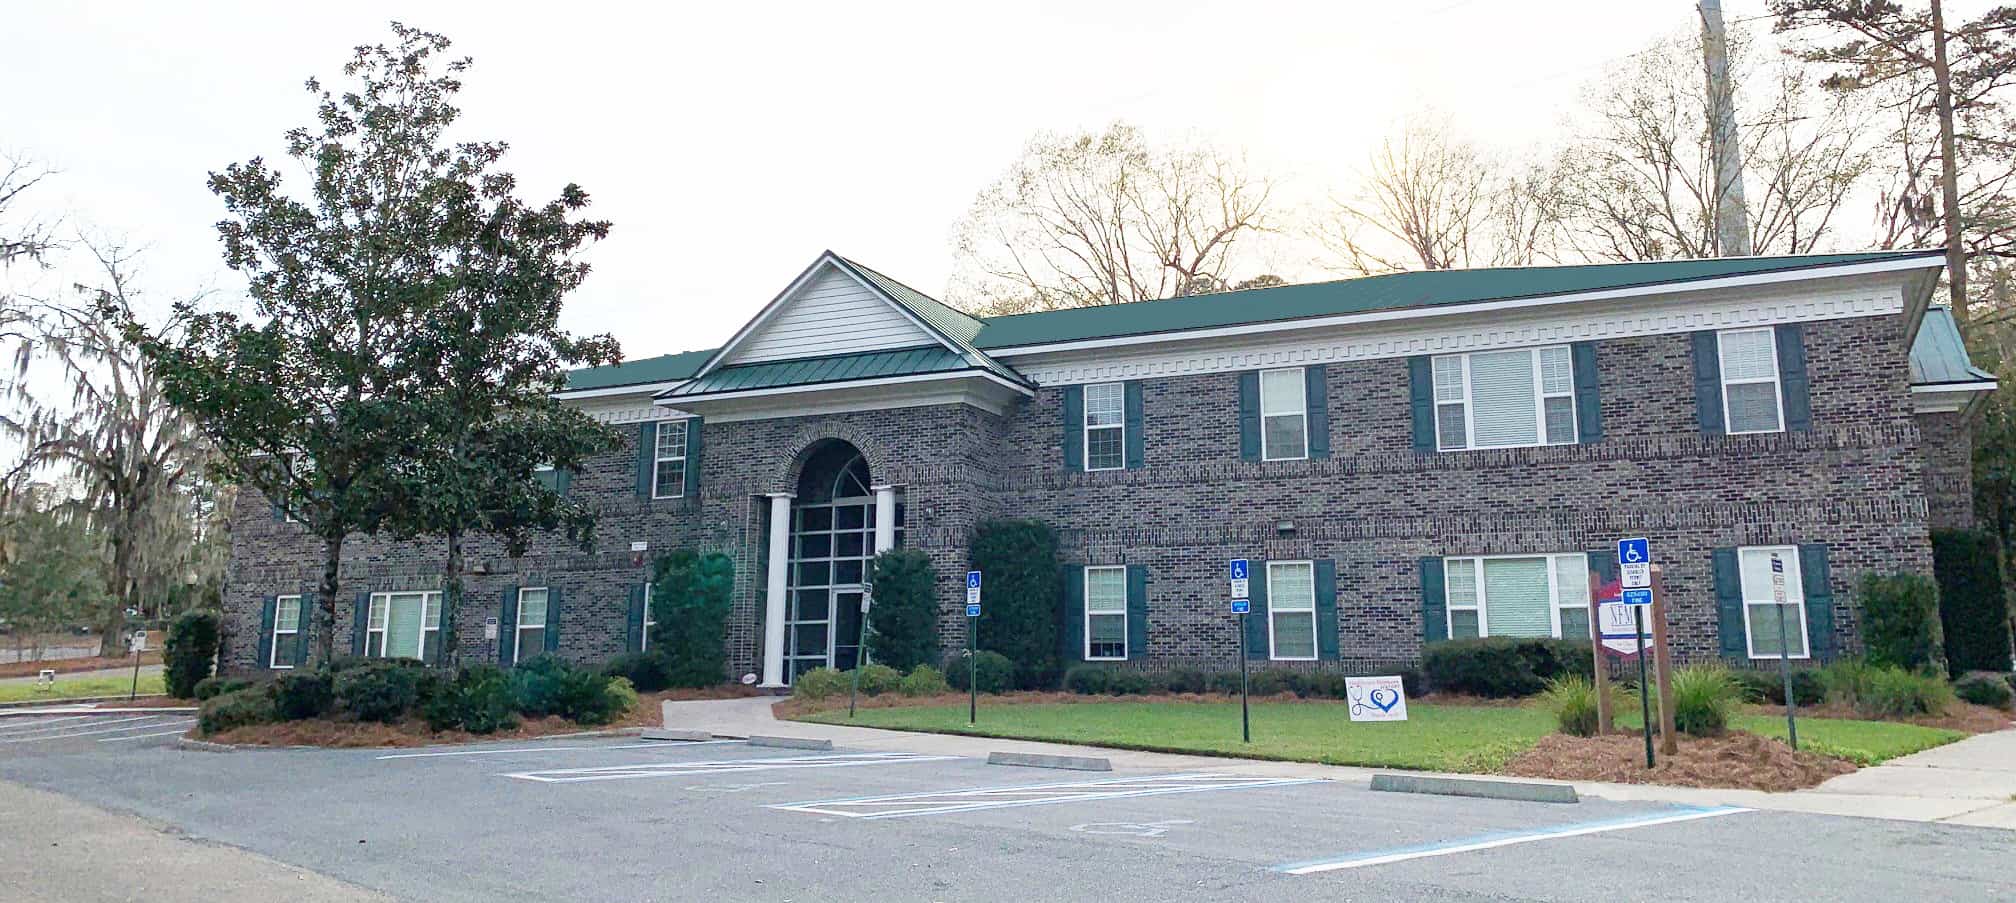
[{"label": "pale concrete sidewalk between the lawn and parking lot", "polygon": [[[1163,752],[1107,750],[1097,746],[1038,744],[1028,740],[966,738],[954,734],[911,734],[833,724],[778,722],[770,705],[778,699],[667,701],[665,728],[706,730],[720,736],[752,734],[833,740],[857,750],[905,750],[931,756],[986,758],[988,752],[1036,752],[1052,756],[1101,756],[1115,772],[1208,770],[1280,778],[1322,778],[1369,784],[1391,768],[1320,766],[1306,762],[1260,762],[1218,756],[1173,756]],[[1490,774],[1452,774],[1470,780],[1526,780]],[[1605,800],[1647,800],[1685,806],[1748,806],[1782,812],[1812,812],[1909,822],[1947,822],[2016,830],[2016,730],[1982,734],[1937,750],[1903,756],[1891,764],[1865,768],[1829,780],[1812,790],[1772,794],[1762,790],[1704,790],[1659,784],[1572,782],[1583,796]]]}]

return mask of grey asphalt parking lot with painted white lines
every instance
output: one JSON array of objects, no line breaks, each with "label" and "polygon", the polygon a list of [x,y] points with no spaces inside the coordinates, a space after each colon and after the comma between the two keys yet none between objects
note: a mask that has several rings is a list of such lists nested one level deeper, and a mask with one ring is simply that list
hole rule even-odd
[{"label": "grey asphalt parking lot with painted white lines", "polygon": [[216,754],[161,730],[42,724],[20,734],[71,736],[0,746],[0,780],[403,899],[2016,895],[1990,828],[738,740]]}]

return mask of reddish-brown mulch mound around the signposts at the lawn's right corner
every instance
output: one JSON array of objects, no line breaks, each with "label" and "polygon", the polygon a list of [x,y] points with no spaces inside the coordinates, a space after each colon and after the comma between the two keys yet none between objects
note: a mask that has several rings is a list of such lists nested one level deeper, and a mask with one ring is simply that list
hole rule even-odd
[{"label": "reddish-brown mulch mound around the signposts at the lawn's right corner", "polygon": [[1782,792],[1802,790],[1855,770],[1853,762],[1806,750],[1794,752],[1778,740],[1744,732],[1720,738],[1679,738],[1679,754],[1657,756],[1657,768],[1645,768],[1645,740],[1639,734],[1601,738],[1548,734],[1508,762],[1504,774]]}]

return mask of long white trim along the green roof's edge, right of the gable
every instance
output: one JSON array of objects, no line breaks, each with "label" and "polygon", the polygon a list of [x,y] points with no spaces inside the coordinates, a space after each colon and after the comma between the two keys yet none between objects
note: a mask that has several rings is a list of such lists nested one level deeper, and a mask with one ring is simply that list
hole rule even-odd
[{"label": "long white trim along the green roof's edge, right of the gable", "polygon": [[1004,349],[986,349],[986,353],[994,357],[1016,357],[1016,355],[1042,355],[1050,351],[1115,349],[1127,345],[1155,345],[1155,343],[1179,343],[1193,339],[1288,333],[1296,329],[1351,327],[1359,322],[1387,322],[1387,320],[1413,320],[1427,316],[1458,316],[1458,314],[1492,312],[1492,310],[1518,310],[1518,308],[1548,306],[1548,304],[1577,304],[1585,300],[1643,298],[1647,294],[1710,292],[1724,288],[1804,282],[1814,278],[1861,276],[1871,272],[1925,270],[1937,266],[1945,266],[1945,258],[1923,256],[1923,258],[1903,258],[1903,260],[1873,260],[1865,264],[1812,266],[1802,270],[1754,272],[1746,276],[1722,276],[1722,278],[1706,278],[1689,282],[1653,282],[1643,286],[1603,288],[1593,292],[1546,294],[1540,298],[1484,300],[1470,304],[1371,310],[1363,314],[1304,316],[1298,320],[1242,322],[1234,327],[1183,329],[1169,333],[1117,335],[1107,339],[1075,339],[1064,343],[1014,345]]}]

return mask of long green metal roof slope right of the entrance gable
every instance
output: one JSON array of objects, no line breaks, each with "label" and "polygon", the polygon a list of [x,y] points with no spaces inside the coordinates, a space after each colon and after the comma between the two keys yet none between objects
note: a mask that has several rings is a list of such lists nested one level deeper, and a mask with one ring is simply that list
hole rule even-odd
[{"label": "long green metal roof slope right of the entrance gable", "polygon": [[1814,266],[1903,260],[1937,252],[1798,254],[1778,258],[1657,260],[1641,264],[1516,266],[1492,270],[1419,270],[1387,276],[1191,294],[1187,298],[992,316],[980,349],[1050,345],[1125,335],[1177,333],[1308,316],[1361,314],[1409,306],[1542,298],[1722,276],[1752,276]]}]

